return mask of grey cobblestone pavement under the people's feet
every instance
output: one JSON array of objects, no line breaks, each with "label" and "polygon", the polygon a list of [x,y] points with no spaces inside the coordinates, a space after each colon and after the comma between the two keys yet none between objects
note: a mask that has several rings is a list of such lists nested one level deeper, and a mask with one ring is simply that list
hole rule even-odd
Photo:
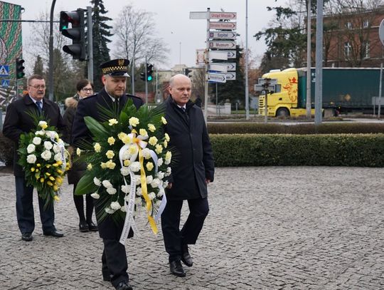
[{"label": "grey cobblestone pavement under the people's feet", "polygon": [[[218,168],[210,214],[187,276],[169,274],[161,233],[144,217],[127,242],[138,289],[384,289],[384,169]],[[44,237],[35,203],[32,242],[15,214],[14,177],[0,172],[0,289],[112,289],[102,281],[102,242],[80,233],[65,185],[55,205],[65,237]],[[183,219],[186,212],[183,212]]]}]

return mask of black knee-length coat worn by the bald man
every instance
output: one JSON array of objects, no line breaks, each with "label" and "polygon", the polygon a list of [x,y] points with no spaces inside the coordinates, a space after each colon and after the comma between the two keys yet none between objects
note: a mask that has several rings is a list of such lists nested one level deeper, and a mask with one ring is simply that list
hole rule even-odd
[{"label": "black knee-length coat worn by the bald man", "polygon": [[169,179],[173,185],[171,190],[166,190],[166,198],[191,200],[207,197],[206,179],[213,181],[215,165],[203,111],[189,101],[186,104],[187,118],[171,96],[165,105],[165,132],[171,138],[169,147],[174,150]]}]

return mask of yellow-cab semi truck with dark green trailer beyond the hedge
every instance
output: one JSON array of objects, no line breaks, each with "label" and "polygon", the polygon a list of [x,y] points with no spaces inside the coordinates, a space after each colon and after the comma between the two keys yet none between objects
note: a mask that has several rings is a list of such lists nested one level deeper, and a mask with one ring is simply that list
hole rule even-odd
[{"label": "yellow-cab semi truck with dark green trailer beyond the hedge", "polygon": [[[380,68],[322,68],[322,109],[331,115],[377,112]],[[274,79],[274,91],[267,93],[267,115],[306,115],[306,68],[272,70],[262,75]],[[311,68],[311,114],[314,115],[315,68]],[[383,95],[383,88],[382,88]],[[384,95],[380,103],[384,103]],[[259,112],[265,115],[265,94],[259,96]]]}]

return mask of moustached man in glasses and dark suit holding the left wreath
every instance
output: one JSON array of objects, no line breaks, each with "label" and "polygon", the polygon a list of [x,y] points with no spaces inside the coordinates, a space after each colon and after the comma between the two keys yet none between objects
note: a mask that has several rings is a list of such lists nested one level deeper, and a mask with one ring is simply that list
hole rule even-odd
[{"label": "moustached man in glasses and dark suit holding the left wreath", "polygon": [[[31,241],[32,232],[35,229],[33,213],[33,187],[26,186],[23,168],[18,162],[18,140],[23,133],[36,129],[36,124],[27,112],[41,113],[49,125],[55,126],[61,133],[65,130],[60,109],[56,103],[43,98],[46,93],[46,81],[42,76],[33,75],[28,78],[28,94],[13,103],[6,110],[3,134],[15,143],[14,150],[14,175],[16,185],[16,216],[21,239]],[[43,234],[46,236],[63,237],[63,234],[55,228],[55,212],[53,204],[46,209],[43,208],[44,201],[38,197],[41,224]]]}]

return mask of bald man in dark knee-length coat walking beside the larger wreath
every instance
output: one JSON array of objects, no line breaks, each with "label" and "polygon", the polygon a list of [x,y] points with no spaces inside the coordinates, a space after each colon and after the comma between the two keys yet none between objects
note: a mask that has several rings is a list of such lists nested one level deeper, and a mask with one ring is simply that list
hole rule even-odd
[{"label": "bald man in dark knee-length coat walking beside the larger wreath", "polygon": [[[169,93],[164,127],[174,157],[161,228],[171,273],[186,276],[181,261],[186,266],[193,264],[188,244],[196,244],[208,214],[207,185],[213,181],[215,168],[203,112],[190,100],[191,80],[181,74],[173,76]],[[183,200],[188,201],[189,215],[180,230]]]}]

